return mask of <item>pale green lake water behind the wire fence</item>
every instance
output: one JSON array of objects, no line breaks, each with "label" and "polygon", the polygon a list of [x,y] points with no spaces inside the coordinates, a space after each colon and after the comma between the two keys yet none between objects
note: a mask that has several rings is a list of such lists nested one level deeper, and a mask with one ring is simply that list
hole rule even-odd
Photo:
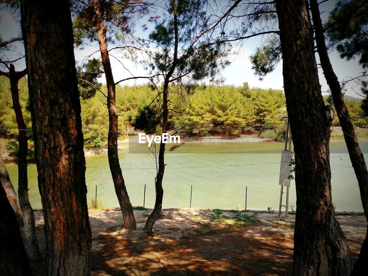
[{"label": "pale green lake water behind the wire fence", "polygon": [[[362,152],[368,152],[367,144],[360,146]],[[244,209],[247,201],[247,209],[277,210],[283,147],[283,143],[222,142],[187,143],[175,151],[167,150],[163,208],[235,209],[240,205]],[[155,202],[156,168],[148,152],[142,144],[122,144],[119,158],[132,205],[151,208]],[[343,141],[330,143],[333,204],[338,211],[360,212],[358,183],[347,154]],[[244,164],[246,166],[237,166]],[[97,185],[99,204],[106,208],[118,207],[107,154],[86,156],[86,166],[88,204],[96,196]],[[17,190],[17,165],[6,167]],[[40,209],[34,163],[28,166],[28,179],[31,205],[33,209]],[[296,205],[294,181],[291,181],[289,205],[293,208]]]}]

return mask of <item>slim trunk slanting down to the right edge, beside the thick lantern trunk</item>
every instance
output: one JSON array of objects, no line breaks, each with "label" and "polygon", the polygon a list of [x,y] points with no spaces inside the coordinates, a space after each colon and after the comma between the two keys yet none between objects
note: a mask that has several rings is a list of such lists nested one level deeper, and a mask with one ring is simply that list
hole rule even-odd
[{"label": "slim trunk slanting down to the right edge, beside the thick lantern trunk", "polygon": [[[357,176],[360,197],[365,213],[365,217],[368,221],[368,171],[365,164],[364,156],[360,150],[357,136],[355,135],[354,125],[351,123],[349,112],[344,103],[343,93],[339,79],[333,71],[332,64],[328,56],[328,51],[325,43],[325,35],[323,33],[323,26],[321,16],[319,14],[318,2],[311,0],[311,12],[313,17],[315,38],[317,44],[317,52],[321,61],[321,67],[323,74],[325,75],[327,84],[330,88],[333,103],[335,105],[337,117],[339,117],[341,129],[344,133],[344,139],[347,146],[347,150],[350,156],[351,164],[354,168],[355,175]],[[367,229],[368,230],[368,229]],[[364,240],[363,244],[367,244],[368,241]],[[366,247],[364,247],[366,248]],[[368,251],[364,250],[363,246],[359,254],[358,261],[354,265],[352,275],[364,275],[368,274],[367,262]]]}]

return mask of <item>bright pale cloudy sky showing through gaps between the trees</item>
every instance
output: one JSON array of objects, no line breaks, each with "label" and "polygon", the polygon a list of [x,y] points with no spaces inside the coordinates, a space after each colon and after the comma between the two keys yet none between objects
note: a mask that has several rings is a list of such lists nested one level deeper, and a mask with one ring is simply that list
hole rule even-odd
[{"label": "bright pale cloudy sky showing through gaps between the trees", "polygon": [[[320,6],[320,10],[330,11],[332,10],[335,0],[329,0],[325,3],[322,3]],[[10,10],[0,10],[0,35],[3,40],[7,40],[9,38],[17,37],[20,34],[20,22],[18,18],[15,18],[15,15],[11,13]],[[323,18],[324,17],[324,18]],[[322,13],[322,20],[327,19],[328,13]],[[251,68],[251,63],[249,56],[255,52],[256,47],[259,46],[262,42],[261,37],[255,37],[247,40],[243,45],[236,48],[236,55],[230,56],[231,64],[227,68],[222,71],[222,77],[224,77],[224,84],[227,85],[243,85],[244,82],[248,82],[251,87],[260,87],[260,88],[274,88],[274,89],[283,89],[283,76],[282,76],[282,61],[278,64],[276,69],[269,73],[266,77],[263,78],[262,81],[259,80],[257,76],[254,75],[254,72]],[[22,44],[16,44],[17,50],[22,52]],[[98,50],[98,44],[94,43],[91,46],[85,47],[83,50],[75,49],[75,59],[83,60],[93,52]],[[114,51],[111,52],[112,56],[118,57],[121,56],[121,53]],[[99,58],[99,53],[93,54],[91,57]],[[117,82],[120,79],[132,77],[134,76],[146,76],[148,74],[147,71],[144,70],[142,66],[139,64],[134,64],[132,61],[124,60],[124,67],[121,65],[121,60],[117,60],[114,57],[111,57],[111,64],[113,68],[114,80]],[[317,57],[318,58],[318,57]],[[348,77],[355,77],[361,71],[361,67],[359,66],[357,60],[346,61],[342,60],[339,57],[339,54],[332,50],[330,52],[330,60],[332,66],[335,70],[335,73],[340,81],[347,79]],[[317,60],[318,63],[318,60]],[[20,61],[15,64],[16,70],[22,70],[25,67],[24,61]],[[325,78],[322,73],[322,69],[319,68],[319,80],[322,85],[322,91],[327,91],[328,86],[326,84]],[[104,77],[100,79],[100,82],[105,83]],[[124,83],[123,85],[134,85],[141,84],[146,82],[144,79],[139,80],[130,80]],[[356,98],[361,98],[356,92],[359,92],[359,87],[355,86],[354,89],[351,89],[349,86],[346,87],[346,95],[353,96]],[[356,91],[356,92],[355,92]]]}]

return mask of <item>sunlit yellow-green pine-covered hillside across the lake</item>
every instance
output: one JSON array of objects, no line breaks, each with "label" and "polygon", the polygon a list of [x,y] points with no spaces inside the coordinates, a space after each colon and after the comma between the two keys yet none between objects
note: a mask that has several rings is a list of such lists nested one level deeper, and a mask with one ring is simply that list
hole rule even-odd
[{"label": "sunlit yellow-green pine-covered hillside across the lake", "polygon": [[[9,139],[7,148],[17,151],[17,123],[12,109],[11,93],[7,78],[1,79],[0,99],[0,128],[1,136]],[[27,106],[28,86],[26,79],[20,81],[20,103],[23,109],[24,120],[31,135],[31,114]],[[79,87],[81,90],[82,88]],[[158,88],[160,89],[160,88]],[[174,89],[173,89],[174,90]],[[101,87],[106,92],[106,86]],[[181,95],[170,95],[169,107],[173,112],[169,117],[170,130],[178,130],[182,135],[208,136],[215,134],[240,135],[248,133],[250,129],[256,131],[261,137],[282,141],[284,136],[283,126],[287,116],[285,96],[281,90],[250,88],[247,83],[243,86],[231,85],[192,85]],[[116,107],[118,112],[118,129],[120,139],[134,135],[132,126],[135,119],[155,99],[156,91],[152,86],[116,86]],[[361,102],[352,97],[344,99],[354,124],[366,124],[367,117],[361,109]],[[325,96],[325,102],[329,98]],[[151,112],[160,117],[158,108],[149,107]],[[107,118],[107,106],[105,96],[97,92],[95,96],[87,99],[81,97],[81,117],[85,139],[85,147],[89,149],[101,149],[106,145],[109,122]],[[160,131],[160,120],[156,121],[153,131]],[[339,125],[337,116],[333,125]],[[135,130],[145,130],[135,128]],[[152,130],[148,130],[152,131]],[[29,143],[33,148],[32,142]],[[33,151],[29,157],[33,158]]]}]

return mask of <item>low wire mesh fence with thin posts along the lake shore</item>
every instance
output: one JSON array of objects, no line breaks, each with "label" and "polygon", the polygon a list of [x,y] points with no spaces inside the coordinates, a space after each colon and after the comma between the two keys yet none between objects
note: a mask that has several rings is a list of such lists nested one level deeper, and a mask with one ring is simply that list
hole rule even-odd
[{"label": "low wire mesh fence with thin posts along the lake shore", "polygon": [[[198,185],[163,185],[163,208],[198,208],[198,209],[249,209],[278,210],[280,186],[229,187]],[[96,202],[99,208],[119,207],[119,202],[111,183],[87,185],[87,202],[92,207]],[[153,208],[155,205],[155,185],[135,185],[127,187],[132,206]],[[286,204],[286,188],[284,188],[283,205]],[[29,190],[29,198],[33,209],[42,209],[38,189]],[[332,202],[338,212],[362,212],[363,207],[358,187],[332,187]],[[282,210],[284,210],[283,208]],[[289,212],[296,210],[295,187],[289,189]]]}]

